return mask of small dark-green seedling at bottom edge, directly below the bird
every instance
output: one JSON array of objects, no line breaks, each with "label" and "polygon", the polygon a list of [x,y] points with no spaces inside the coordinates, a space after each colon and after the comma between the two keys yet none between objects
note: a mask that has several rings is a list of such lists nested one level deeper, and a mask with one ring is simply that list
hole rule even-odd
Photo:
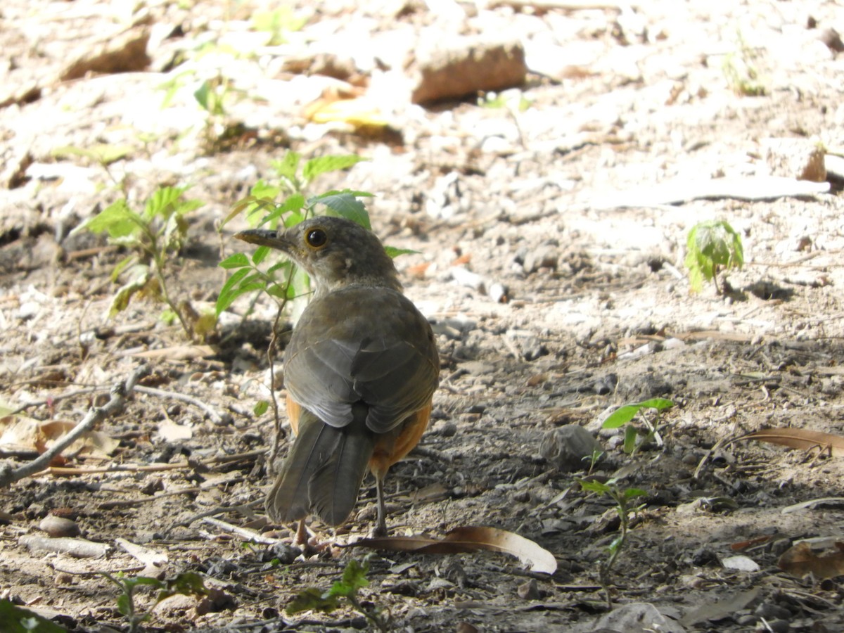
[{"label": "small dark-green seedling at bottom edge, directly below the bird", "polygon": [[385,616],[381,609],[360,601],[360,589],[369,585],[366,575],[369,573],[371,556],[365,556],[360,562],[354,559],[349,560],[349,564],[343,571],[343,577],[334,582],[331,588],[323,590],[318,587],[308,587],[300,592],[284,609],[285,613],[294,615],[301,611],[322,611],[322,613],[330,614],[346,602],[352,609],[363,614],[378,630],[390,630],[389,614]]}]

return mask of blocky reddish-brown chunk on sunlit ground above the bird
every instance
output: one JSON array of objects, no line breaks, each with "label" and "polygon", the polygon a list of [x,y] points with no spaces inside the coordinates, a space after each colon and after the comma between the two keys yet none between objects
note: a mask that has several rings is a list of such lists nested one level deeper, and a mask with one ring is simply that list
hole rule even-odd
[{"label": "blocky reddish-brown chunk on sunlit ground above the bird", "polygon": [[525,51],[518,41],[459,37],[447,48],[430,46],[419,52],[417,63],[411,95],[416,104],[513,88],[524,84],[527,75]]}]

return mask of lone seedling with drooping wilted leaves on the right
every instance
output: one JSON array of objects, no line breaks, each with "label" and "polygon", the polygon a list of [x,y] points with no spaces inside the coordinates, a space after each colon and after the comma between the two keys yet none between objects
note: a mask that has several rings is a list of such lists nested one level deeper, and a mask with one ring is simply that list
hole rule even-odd
[{"label": "lone seedling with drooping wilted leaves on the right", "polygon": [[724,220],[706,220],[693,226],[686,238],[686,250],[685,265],[695,292],[703,289],[706,280],[715,284],[717,294],[721,295],[718,273],[744,264],[741,236]]}]

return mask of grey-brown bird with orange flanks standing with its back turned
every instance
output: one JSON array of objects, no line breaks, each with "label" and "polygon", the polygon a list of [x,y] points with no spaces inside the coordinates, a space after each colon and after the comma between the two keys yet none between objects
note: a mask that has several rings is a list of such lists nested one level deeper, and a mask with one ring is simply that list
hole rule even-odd
[{"label": "grey-brown bird with orange flanks standing with its back turned", "polygon": [[373,533],[387,535],[384,478],[427,428],[440,362],[430,323],[403,295],[378,237],[352,220],[317,216],[235,237],[284,253],[314,293],[284,350],[287,414],[295,441],[270,489],[273,522],[316,514],[342,525],[369,469],[378,503]]}]

